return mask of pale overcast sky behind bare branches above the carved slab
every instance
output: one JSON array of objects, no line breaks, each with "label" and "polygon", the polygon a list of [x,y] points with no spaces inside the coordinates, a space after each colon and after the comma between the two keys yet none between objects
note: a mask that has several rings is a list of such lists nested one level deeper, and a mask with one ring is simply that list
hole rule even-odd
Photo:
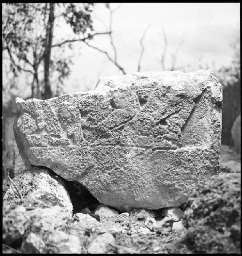
[{"label": "pale overcast sky behind bare branches above the carved slab", "polygon": [[[114,9],[119,5],[111,3],[110,7]],[[108,27],[108,9],[104,3],[96,4],[94,9],[94,32],[107,31],[104,24]],[[200,59],[201,64],[208,64],[211,69],[213,64],[219,68],[229,65],[233,56],[229,44],[233,33],[240,29],[240,3],[121,3],[113,14],[112,31],[118,63],[126,73],[137,71],[141,51],[139,40],[148,25],[150,27],[143,41],[145,51],[141,72],[162,70],[162,28],[168,42],[166,67],[170,67],[171,53],[175,52],[181,41],[177,55],[179,66],[190,64],[190,71],[197,70]],[[55,40],[60,40],[61,35],[68,38],[66,26],[61,24],[55,29]],[[94,37],[90,44],[108,51],[111,56],[113,54],[107,35]],[[99,77],[121,74],[106,55],[83,43],[75,43],[73,55],[74,64],[70,77],[65,81],[65,93],[94,89]]]}]

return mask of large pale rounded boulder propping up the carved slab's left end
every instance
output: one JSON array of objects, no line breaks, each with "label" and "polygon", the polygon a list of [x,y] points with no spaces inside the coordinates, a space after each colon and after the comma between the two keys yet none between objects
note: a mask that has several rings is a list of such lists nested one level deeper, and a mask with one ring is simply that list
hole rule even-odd
[{"label": "large pale rounded boulder propping up the carved slab's left end", "polygon": [[[58,177],[50,176],[47,170],[31,168],[16,175],[14,182],[22,195],[23,206],[60,206],[69,212],[70,216],[72,215],[72,202],[63,181]],[[3,203],[11,206],[20,204],[20,198],[11,186],[4,195]]]}]

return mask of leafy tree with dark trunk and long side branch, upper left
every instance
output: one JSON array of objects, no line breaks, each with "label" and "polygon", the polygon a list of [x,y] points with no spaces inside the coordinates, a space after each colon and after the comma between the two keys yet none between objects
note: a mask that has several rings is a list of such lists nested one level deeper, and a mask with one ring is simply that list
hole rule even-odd
[{"label": "leafy tree with dark trunk and long side branch, upper left", "polygon": [[[70,74],[70,70],[66,72],[66,66],[71,64],[68,58],[51,58],[54,48],[71,48],[75,42],[86,42],[96,35],[111,33],[93,32],[92,7],[93,3],[3,4],[2,50],[7,51],[15,76],[22,72],[32,76],[32,97],[46,99],[52,96],[50,71],[55,67],[60,73],[60,81]],[[69,25],[74,36],[61,38],[58,42],[55,24],[61,22]],[[44,88],[41,93],[39,75],[43,72]]]}]

